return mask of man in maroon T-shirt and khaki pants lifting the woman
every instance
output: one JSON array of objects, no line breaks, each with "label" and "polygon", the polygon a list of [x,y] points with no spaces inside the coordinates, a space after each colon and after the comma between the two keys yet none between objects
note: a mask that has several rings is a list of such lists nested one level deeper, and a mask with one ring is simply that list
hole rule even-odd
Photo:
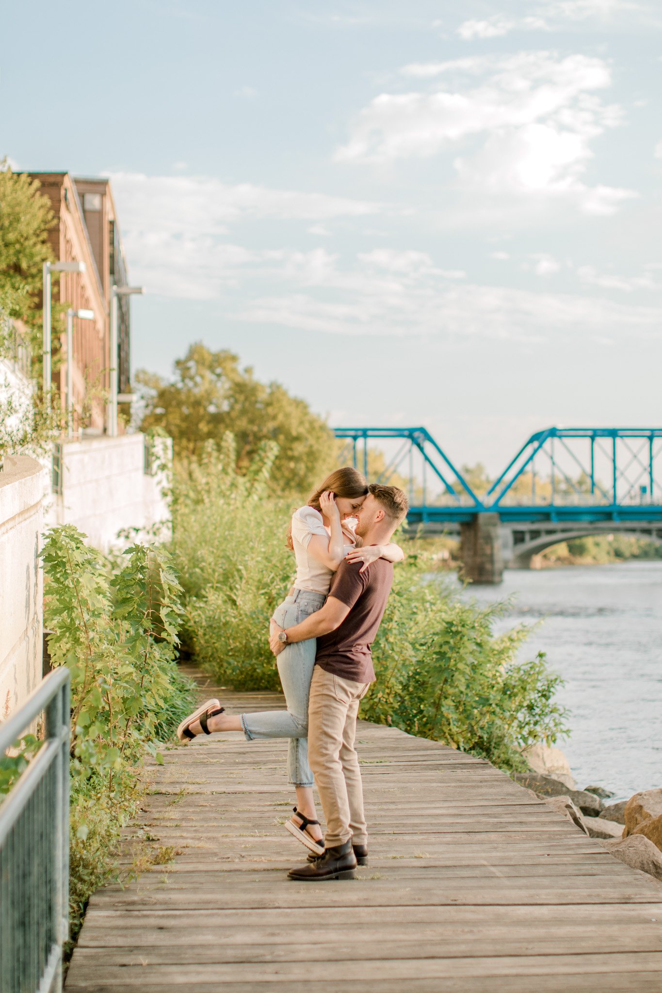
[{"label": "man in maroon T-shirt and khaki pants lifting the woman", "polygon": [[[372,484],[358,513],[356,534],[366,545],[387,544],[408,510],[397,487]],[[393,582],[393,565],[383,558],[369,565],[342,562],[324,607],[301,624],[274,626],[275,655],[288,642],[318,638],[309,704],[308,753],[327,818],[325,852],[290,879],[353,878],[357,856],[367,862],[363,787],[354,750],[356,714],[375,674],[370,645],[377,634]]]}]

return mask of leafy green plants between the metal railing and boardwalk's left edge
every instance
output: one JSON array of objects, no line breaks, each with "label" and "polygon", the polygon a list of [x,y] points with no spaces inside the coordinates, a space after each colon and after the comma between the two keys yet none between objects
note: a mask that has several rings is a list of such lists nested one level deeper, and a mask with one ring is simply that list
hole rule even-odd
[{"label": "leafy green plants between the metal railing and boardwalk's left edge", "polygon": [[181,588],[163,549],[134,544],[112,571],[84,535],[51,530],[42,558],[44,621],[54,665],[71,672],[70,919],[115,869],[122,826],[140,795],[145,750],[163,761],[192,705],[175,656]]}]

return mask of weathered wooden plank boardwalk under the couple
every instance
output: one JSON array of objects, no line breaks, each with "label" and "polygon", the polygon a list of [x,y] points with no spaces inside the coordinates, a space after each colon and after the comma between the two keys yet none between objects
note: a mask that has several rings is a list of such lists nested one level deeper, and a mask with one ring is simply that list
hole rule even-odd
[{"label": "weathered wooden plank boardwalk under the couple", "polygon": [[92,898],[68,993],[662,990],[662,884],[488,763],[367,723],[357,738],[370,864],[320,884],[286,879],[306,853],[281,826],[285,742],[168,752],[143,825],[178,855]]}]

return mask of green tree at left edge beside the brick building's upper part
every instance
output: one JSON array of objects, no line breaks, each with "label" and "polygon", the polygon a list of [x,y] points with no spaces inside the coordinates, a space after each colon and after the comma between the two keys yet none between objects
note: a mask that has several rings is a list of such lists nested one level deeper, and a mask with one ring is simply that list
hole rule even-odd
[{"label": "green tree at left edge beside the brick building's upper part", "polygon": [[53,259],[54,220],[40,184],[0,163],[0,308],[33,335],[41,326],[42,267]]}]

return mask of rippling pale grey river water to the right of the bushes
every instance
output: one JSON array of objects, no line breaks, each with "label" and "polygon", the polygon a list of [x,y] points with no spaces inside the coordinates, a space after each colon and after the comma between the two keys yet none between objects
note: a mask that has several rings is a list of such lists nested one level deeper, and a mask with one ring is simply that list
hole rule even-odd
[{"label": "rippling pale grey river water to the right of the bushes", "polygon": [[542,622],[521,658],[545,651],[566,680],[568,756],[578,787],[626,799],[662,786],[662,561],[509,569],[498,586],[472,586],[479,603],[513,597],[495,633]]}]

